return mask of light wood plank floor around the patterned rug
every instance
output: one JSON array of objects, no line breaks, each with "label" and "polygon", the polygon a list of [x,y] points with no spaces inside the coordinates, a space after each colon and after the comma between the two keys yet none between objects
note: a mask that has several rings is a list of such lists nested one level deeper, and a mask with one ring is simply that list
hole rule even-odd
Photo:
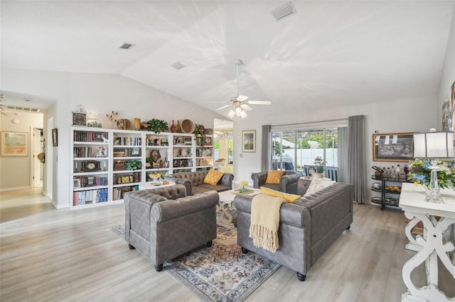
[{"label": "light wood plank floor around the patterned rug", "polygon": [[[122,204],[56,210],[40,191],[0,192],[0,301],[198,301],[109,230],[124,223]],[[355,204],[350,230],[306,281],[281,267],[246,301],[400,301],[402,265],[415,254],[404,229],[399,209]],[[423,268],[412,277],[423,284]]]}]

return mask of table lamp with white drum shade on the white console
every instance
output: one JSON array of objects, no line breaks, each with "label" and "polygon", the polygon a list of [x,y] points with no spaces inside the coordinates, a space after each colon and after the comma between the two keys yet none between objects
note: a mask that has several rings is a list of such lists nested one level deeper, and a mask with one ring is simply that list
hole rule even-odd
[{"label": "table lamp with white drum shade on the white console", "polygon": [[437,171],[437,160],[443,158],[454,158],[454,133],[437,132],[434,128],[429,133],[414,133],[414,158],[428,158],[431,172],[430,194],[426,197],[428,202],[444,203],[439,196],[439,184]]}]

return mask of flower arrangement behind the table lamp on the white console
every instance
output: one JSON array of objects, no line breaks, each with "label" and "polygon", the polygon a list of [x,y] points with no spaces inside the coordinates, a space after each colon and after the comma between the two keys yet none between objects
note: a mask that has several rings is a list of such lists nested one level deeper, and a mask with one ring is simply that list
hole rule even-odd
[{"label": "flower arrangement behind the table lamp on the white console", "polygon": [[[407,180],[414,181],[415,185],[425,185],[429,187],[431,181],[432,170],[429,169],[432,164],[428,159],[416,158],[410,160],[407,166],[408,174]],[[438,185],[442,188],[455,189],[455,161],[454,160],[437,160],[437,167],[439,167]]]}]

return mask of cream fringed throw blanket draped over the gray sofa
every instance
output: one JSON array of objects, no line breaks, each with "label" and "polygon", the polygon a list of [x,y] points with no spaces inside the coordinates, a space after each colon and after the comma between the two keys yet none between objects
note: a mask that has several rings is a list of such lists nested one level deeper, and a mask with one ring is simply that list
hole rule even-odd
[{"label": "cream fringed throw blanket draped over the gray sofa", "polygon": [[250,237],[255,247],[276,252],[278,250],[279,208],[283,198],[258,194],[251,203]]}]

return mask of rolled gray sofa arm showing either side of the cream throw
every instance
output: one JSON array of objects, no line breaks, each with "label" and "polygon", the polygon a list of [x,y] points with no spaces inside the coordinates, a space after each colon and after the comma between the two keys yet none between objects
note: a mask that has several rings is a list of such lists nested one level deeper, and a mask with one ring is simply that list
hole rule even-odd
[{"label": "rolled gray sofa arm showing either side of the cream throw", "polygon": [[[251,215],[252,198],[247,194],[237,194],[234,198],[234,206],[237,208],[237,212]],[[283,203],[279,210],[279,221],[296,228],[304,228],[304,225],[309,227],[311,223],[309,208],[295,203]]]}]

